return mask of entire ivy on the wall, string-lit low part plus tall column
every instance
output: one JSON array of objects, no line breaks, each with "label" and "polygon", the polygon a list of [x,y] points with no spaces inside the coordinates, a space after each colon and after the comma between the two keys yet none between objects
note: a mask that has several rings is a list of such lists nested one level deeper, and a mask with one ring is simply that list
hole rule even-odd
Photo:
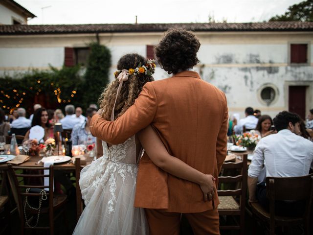
[{"label": "entire ivy on the wall, string-lit low part plus tall column", "polygon": [[64,110],[67,104],[86,109],[97,103],[103,88],[109,82],[111,51],[98,43],[89,44],[90,54],[86,73],[81,67],[50,66],[47,71],[29,71],[15,76],[0,77],[0,107],[6,114],[23,107],[32,113],[35,103],[47,109]]}]

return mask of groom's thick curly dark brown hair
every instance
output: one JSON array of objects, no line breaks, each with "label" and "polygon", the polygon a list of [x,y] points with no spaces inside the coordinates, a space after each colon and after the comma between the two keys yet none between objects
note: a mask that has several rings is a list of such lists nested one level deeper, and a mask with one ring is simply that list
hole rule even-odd
[{"label": "groom's thick curly dark brown hair", "polygon": [[168,74],[191,69],[199,63],[197,52],[200,45],[191,31],[169,29],[155,47],[157,62]]}]

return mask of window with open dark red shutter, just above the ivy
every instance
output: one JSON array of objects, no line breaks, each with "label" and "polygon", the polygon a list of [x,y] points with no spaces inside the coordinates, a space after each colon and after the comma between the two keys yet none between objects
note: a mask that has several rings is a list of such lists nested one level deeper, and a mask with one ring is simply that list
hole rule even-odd
[{"label": "window with open dark red shutter, just above the ivy", "polygon": [[86,66],[89,53],[89,47],[65,47],[64,65],[67,67],[78,64]]}]

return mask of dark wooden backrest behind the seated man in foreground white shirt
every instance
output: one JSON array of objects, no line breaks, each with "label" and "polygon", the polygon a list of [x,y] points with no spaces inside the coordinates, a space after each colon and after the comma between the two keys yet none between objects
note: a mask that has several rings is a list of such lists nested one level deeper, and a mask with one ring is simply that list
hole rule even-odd
[{"label": "dark wooden backrest behind the seated man in foreground white shirt", "polygon": [[267,177],[267,197],[271,216],[275,215],[275,201],[306,202],[304,216],[308,216],[313,200],[313,174],[299,177]]}]

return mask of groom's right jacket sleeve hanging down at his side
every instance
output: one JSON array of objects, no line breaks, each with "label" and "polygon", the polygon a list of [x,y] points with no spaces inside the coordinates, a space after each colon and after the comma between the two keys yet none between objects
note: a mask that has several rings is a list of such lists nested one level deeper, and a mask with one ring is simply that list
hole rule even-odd
[{"label": "groom's right jacket sleeve hanging down at his side", "polygon": [[222,165],[224,163],[224,160],[226,158],[227,154],[227,129],[228,129],[228,108],[227,108],[227,102],[226,102],[226,96],[225,97],[225,112],[224,112],[224,118],[222,121],[221,129],[217,137],[216,141],[216,160],[217,160],[217,167],[218,171],[220,173]]}]

